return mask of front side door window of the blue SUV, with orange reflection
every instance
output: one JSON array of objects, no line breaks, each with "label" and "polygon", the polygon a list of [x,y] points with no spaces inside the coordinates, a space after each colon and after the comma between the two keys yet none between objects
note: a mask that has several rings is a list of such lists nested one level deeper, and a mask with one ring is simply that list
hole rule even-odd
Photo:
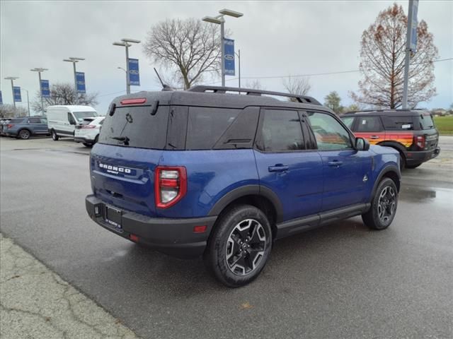
[{"label": "front side door window of the blue SUV, with orange reflection", "polygon": [[348,131],[329,114],[308,112],[319,150],[352,148]]}]

